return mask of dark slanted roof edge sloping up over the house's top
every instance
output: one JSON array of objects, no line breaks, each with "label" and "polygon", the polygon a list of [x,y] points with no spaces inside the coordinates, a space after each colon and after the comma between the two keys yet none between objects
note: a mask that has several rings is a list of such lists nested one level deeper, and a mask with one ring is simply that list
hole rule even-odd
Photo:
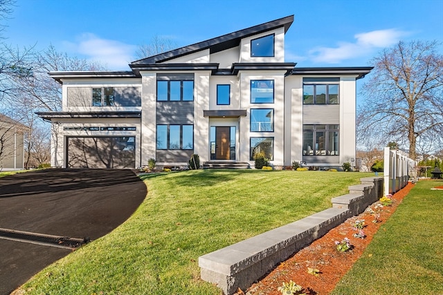
[{"label": "dark slanted roof edge sloping up over the house's top", "polygon": [[189,55],[190,53],[197,53],[201,50],[208,49],[210,53],[218,53],[219,51],[226,50],[229,48],[234,48],[239,46],[240,40],[246,37],[250,37],[253,35],[260,34],[262,32],[267,32],[269,30],[274,30],[275,28],[284,27],[284,32],[286,33],[289,27],[293,22],[293,15],[289,17],[283,17],[281,19],[275,19],[274,21],[269,21],[267,23],[262,23],[257,26],[253,26],[251,28],[246,28],[244,30],[238,30],[236,32],[231,32],[226,35],[222,35],[219,37],[215,37],[213,39],[209,39],[206,41],[201,41],[196,44],[192,44],[189,46],[177,48],[167,53],[161,53],[159,55],[154,55],[152,57],[146,57],[144,59],[139,59],[133,61],[129,66],[136,64],[156,64],[164,61],[168,61],[170,59],[174,59],[177,57],[181,57],[183,55]]}]

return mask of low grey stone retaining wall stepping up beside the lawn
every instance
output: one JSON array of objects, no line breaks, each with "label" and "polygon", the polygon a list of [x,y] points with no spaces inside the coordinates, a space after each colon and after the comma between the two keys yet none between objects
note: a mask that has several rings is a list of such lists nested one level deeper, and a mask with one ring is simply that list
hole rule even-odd
[{"label": "low grey stone retaining wall stepping up beside the lawn", "polygon": [[383,196],[383,178],[361,178],[350,193],[332,198],[332,208],[199,257],[201,279],[224,294],[246,289],[278,263],[325,235]]}]

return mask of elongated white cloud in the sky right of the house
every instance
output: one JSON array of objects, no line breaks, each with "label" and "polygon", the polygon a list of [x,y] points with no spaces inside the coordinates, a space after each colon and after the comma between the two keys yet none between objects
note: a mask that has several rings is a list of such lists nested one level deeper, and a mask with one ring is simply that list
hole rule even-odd
[{"label": "elongated white cloud in the sky right of the house", "polygon": [[401,37],[409,35],[397,29],[374,30],[354,35],[356,41],[338,42],[337,47],[316,47],[309,51],[311,59],[315,62],[338,64],[345,59],[363,57],[374,50],[396,44]]}]

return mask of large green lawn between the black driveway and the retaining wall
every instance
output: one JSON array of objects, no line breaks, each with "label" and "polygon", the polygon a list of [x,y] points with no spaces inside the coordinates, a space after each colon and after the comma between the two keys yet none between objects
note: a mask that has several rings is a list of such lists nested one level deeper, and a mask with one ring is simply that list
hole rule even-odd
[{"label": "large green lawn between the black driveway and the retaining wall", "polygon": [[198,258],[331,207],[373,173],[199,170],[143,176],[129,220],[37,274],[28,294],[221,294]]}]

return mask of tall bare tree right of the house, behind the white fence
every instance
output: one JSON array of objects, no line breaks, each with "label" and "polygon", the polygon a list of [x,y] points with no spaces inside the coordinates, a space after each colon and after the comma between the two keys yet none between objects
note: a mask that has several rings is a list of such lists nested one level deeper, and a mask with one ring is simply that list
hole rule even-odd
[{"label": "tall bare tree right of the house, behind the white fence", "polygon": [[[436,41],[400,41],[374,57],[375,67],[363,85],[366,97],[357,117],[360,139],[397,142],[408,146],[410,158],[415,159],[420,140],[424,147],[431,138],[442,137],[443,56],[437,53],[438,45]],[[428,147],[442,149],[435,144]]]}]

